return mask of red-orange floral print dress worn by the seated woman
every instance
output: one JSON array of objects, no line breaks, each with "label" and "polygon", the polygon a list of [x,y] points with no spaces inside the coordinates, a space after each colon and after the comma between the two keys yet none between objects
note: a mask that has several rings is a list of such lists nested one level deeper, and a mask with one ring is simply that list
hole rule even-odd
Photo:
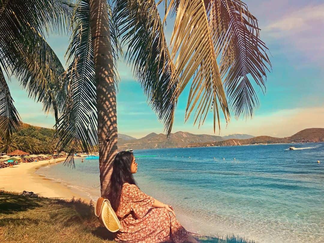
[{"label": "red-orange floral print dress worn by the seated woman", "polygon": [[189,233],[166,208],[153,208],[154,198],[136,185],[124,183],[117,216],[121,229],[115,240],[129,243],[186,241]]}]

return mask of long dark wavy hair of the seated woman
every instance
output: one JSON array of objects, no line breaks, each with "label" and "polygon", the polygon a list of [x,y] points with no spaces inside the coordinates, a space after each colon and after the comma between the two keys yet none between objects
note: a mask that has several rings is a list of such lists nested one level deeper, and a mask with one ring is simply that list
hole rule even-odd
[{"label": "long dark wavy hair of the seated woman", "polygon": [[133,153],[121,151],[116,155],[112,164],[113,170],[106,197],[110,201],[111,207],[115,212],[120,203],[122,185],[125,182],[136,185],[136,181],[131,173],[133,157]]}]

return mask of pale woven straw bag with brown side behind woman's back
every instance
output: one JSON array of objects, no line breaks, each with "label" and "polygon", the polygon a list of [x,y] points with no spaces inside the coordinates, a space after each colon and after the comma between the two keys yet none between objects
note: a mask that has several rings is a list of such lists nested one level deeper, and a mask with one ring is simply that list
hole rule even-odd
[{"label": "pale woven straw bag with brown side behind woman's back", "polygon": [[102,226],[105,226],[110,232],[117,232],[121,229],[121,223],[112,209],[108,199],[99,197],[95,207],[95,214]]}]

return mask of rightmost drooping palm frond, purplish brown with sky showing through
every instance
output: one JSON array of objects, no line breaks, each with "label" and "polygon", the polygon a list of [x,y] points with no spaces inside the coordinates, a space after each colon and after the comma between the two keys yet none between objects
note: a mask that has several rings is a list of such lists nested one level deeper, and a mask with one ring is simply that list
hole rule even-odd
[{"label": "rightmost drooping palm frond, purplish brown with sky showing through", "polygon": [[220,72],[236,118],[252,116],[258,97],[250,80],[265,90],[266,71],[271,67],[260,40],[258,21],[241,0],[207,1],[215,52],[221,54]]}]

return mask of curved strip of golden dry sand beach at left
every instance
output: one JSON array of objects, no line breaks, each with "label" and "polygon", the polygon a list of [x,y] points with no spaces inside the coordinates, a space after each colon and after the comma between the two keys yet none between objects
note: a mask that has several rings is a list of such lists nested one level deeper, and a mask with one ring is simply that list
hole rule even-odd
[{"label": "curved strip of golden dry sand beach at left", "polygon": [[46,179],[35,172],[42,166],[63,162],[65,158],[42,160],[32,163],[21,163],[14,167],[0,169],[0,190],[4,191],[33,191],[34,193],[49,198],[71,199],[81,198],[89,201],[89,198],[80,193],[76,193],[66,185]]}]

